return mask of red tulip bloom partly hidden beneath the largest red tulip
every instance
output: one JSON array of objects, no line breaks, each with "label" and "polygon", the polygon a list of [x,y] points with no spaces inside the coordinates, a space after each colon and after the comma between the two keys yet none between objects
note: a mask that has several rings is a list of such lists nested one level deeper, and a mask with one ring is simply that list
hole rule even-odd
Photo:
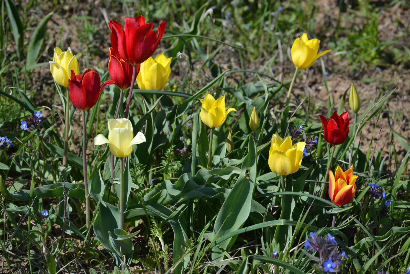
[{"label": "red tulip bloom partly hidden beneath the largest red tulip", "polygon": [[[119,55],[113,54],[113,49],[108,49],[109,61],[108,61],[108,73],[111,79],[115,82],[115,85],[120,90],[125,90],[130,87],[132,81],[132,65],[124,62]],[[118,52],[117,52],[118,54]],[[136,75],[139,73],[140,65],[137,65]]]}]

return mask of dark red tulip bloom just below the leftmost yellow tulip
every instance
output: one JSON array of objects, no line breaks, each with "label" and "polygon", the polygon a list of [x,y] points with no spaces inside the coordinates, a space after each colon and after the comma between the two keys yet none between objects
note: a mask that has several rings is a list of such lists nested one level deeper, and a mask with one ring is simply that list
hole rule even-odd
[{"label": "dark red tulip bloom just below the leftmost yellow tulip", "polygon": [[100,76],[92,69],[87,69],[83,75],[75,75],[72,70],[68,80],[68,89],[73,106],[82,111],[88,111],[97,103],[103,89],[111,84],[115,83],[109,80],[100,86]]}]

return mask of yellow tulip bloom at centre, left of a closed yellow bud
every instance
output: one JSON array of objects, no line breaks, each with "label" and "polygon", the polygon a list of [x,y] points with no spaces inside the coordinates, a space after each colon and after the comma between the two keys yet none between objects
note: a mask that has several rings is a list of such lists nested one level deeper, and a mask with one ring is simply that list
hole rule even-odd
[{"label": "yellow tulip bloom at centre, left of a closed yellow bud", "polygon": [[202,103],[201,120],[210,128],[220,127],[225,122],[228,113],[237,111],[235,108],[228,108],[225,111],[225,95],[215,100],[211,94],[206,94],[205,98],[199,99],[199,101]]}]

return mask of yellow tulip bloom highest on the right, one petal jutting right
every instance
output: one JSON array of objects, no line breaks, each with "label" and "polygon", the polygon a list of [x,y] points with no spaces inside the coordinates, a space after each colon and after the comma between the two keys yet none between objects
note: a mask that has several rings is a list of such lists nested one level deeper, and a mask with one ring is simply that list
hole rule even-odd
[{"label": "yellow tulip bloom highest on the right, one petal jutting right", "polygon": [[317,51],[319,51],[319,43],[320,40],[318,39],[307,39],[306,33],[296,38],[291,50],[292,61],[296,69],[310,68],[317,58],[330,51],[330,49],[328,49],[317,54]]}]

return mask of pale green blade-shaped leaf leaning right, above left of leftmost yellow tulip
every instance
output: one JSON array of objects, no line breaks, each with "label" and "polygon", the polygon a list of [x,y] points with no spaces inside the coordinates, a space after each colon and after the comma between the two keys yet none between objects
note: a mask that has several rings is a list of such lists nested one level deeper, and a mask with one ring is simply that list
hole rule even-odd
[{"label": "pale green blade-shaped leaf leaning right, above left of leftmost yellow tulip", "polygon": [[43,45],[44,35],[46,34],[47,30],[47,23],[53,14],[54,11],[44,16],[43,20],[41,20],[41,22],[39,23],[39,25],[37,25],[36,29],[33,32],[32,37],[28,43],[26,58],[27,66],[36,63],[36,60],[39,57],[41,46]]}]

